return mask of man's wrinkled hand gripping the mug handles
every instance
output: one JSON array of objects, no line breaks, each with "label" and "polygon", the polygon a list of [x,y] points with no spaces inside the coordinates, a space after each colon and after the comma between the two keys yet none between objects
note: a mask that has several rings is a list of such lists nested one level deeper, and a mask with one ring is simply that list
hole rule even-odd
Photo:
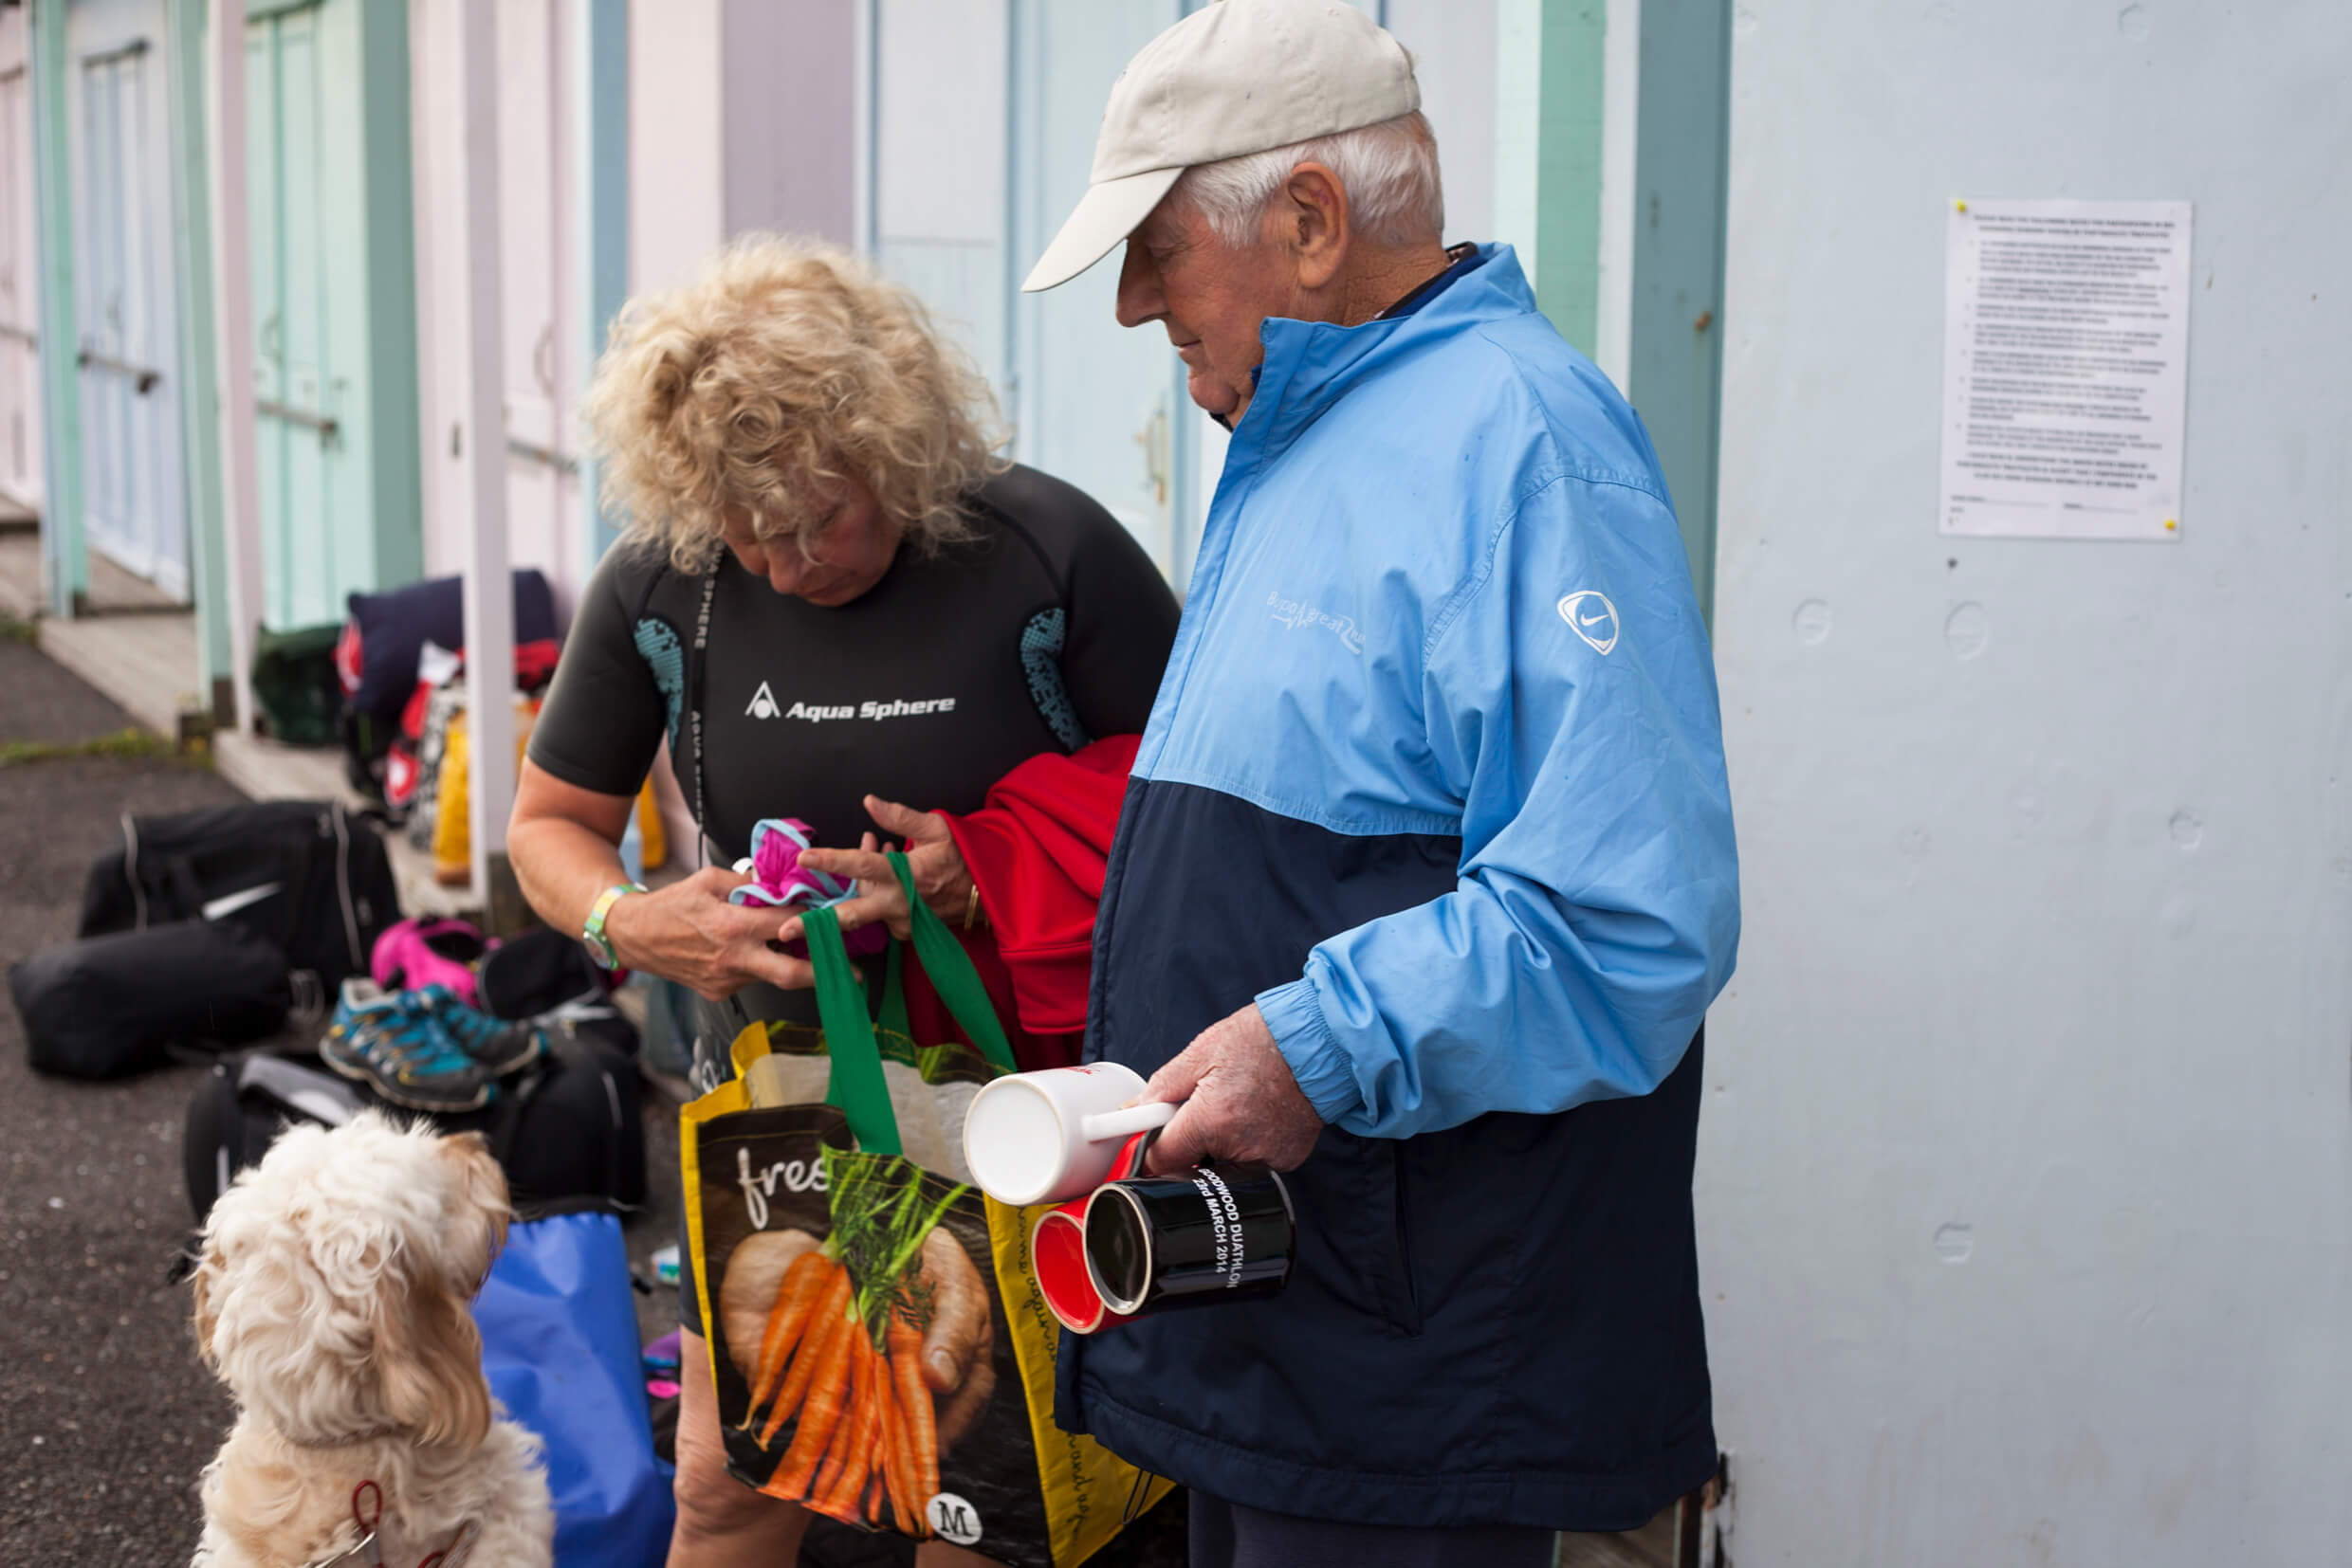
[{"label": "man's wrinkled hand gripping the mug handles", "polygon": [[1242,1159],[1294,1171],[1324,1128],[1256,1001],[1202,1030],[1136,1098],[1183,1105],[1152,1138],[1152,1175]]}]

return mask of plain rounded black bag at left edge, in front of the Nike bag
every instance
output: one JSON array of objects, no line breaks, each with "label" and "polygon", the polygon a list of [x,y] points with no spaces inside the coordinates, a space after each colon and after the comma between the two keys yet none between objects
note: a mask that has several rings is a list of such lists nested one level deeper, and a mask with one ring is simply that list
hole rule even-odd
[{"label": "plain rounded black bag at left edge, in front of the Nike bag", "polygon": [[207,919],[52,947],[9,969],[7,987],[33,1067],[75,1079],[146,1072],[174,1046],[240,1046],[294,1006],[278,943]]}]

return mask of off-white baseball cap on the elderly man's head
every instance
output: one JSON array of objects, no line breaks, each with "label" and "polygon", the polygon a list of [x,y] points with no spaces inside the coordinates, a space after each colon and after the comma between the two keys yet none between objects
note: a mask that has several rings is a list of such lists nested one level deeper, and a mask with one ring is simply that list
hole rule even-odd
[{"label": "off-white baseball cap on the elderly man's head", "polygon": [[1110,85],[1087,195],[1025,292],[1110,254],[1202,162],[1336,136],[1421,108],[1414,61],[1343,0],[1218,0],[1171,26]]}]

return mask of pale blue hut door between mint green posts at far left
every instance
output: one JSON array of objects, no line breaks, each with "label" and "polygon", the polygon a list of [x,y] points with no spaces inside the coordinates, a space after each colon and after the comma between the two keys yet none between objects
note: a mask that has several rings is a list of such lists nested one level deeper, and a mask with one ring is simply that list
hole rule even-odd
[{"label": "pale blue hut door between mint green posts at far left", "polygon": [[82,505],[89,543],[181,597],[188,531],[174,421],[176,357],[162,292],[169,190],[148,139],[143,47],[82,61],[80,395]]}]

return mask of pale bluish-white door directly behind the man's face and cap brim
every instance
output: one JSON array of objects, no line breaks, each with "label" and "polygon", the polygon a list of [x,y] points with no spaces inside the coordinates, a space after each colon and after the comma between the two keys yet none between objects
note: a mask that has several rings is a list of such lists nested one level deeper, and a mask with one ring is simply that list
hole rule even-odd
[{"label": "pale bluish-white door directly behind the man's face and cap brim", "polygon": [[[1025,0],[1014,7],[1014,266],[1018,287],[1087,190],[1110,82],[1183,0]],[[1176,421],[1190,404],[1167,334],[1112,315],[1117,254],[1084,277],[1011,301],[1018,454],[1077,484],[1178,567]]]}]

